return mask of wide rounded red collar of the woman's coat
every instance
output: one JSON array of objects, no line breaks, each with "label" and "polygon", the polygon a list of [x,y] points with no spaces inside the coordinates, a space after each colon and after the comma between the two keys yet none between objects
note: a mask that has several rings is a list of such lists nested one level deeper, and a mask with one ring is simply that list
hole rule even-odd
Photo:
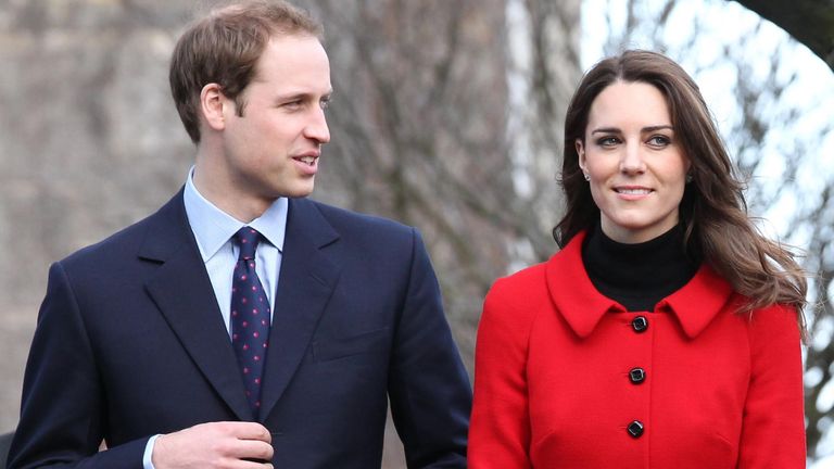
[{"label": "wide rounded red collar of the woman's coat", "polygon": [[[606,313],[626,313],[626,307],[599,293],[582,262],[582,231],[546,264],[547,290],[556,309],[573,332],[586,338]],[[706,263],[683,288],[655,307],[655,313],[671,313],[687,338],[697,337],[732,296],[730,284]]]}]

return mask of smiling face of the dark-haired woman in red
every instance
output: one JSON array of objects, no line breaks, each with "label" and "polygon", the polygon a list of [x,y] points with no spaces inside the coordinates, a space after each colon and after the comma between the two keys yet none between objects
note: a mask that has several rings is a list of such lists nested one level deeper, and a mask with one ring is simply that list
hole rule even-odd
[{"label": "smiling face of the dark-haired woman in red", "polygon": [[657,88],[639,81],[605,88],[576,147],[606,236],[639,243],[678,224],[690,161]]}]

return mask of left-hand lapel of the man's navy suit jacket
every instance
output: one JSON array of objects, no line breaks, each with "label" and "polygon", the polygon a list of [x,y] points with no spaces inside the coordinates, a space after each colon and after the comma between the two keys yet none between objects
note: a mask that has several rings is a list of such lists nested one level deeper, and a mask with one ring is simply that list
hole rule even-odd
[{"label": "left-hand lapel of the man's navy suit jacket", "polygon": [[188,225],[182,192],[152,218],[139,256],[162,265],[146,283],[200,371],[241,420],[252,411],[208,275]]}]

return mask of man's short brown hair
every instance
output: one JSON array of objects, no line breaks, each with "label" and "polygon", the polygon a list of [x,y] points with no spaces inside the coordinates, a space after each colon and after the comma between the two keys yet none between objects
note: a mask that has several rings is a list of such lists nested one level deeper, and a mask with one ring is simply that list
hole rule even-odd
[{"label": "man's short brown hair", "polygon": [[321,24],[306,11],[280,0],[250,0],[212,11],[179,38],[170,60],[168,79],[179,117],[194,143],[200,142],[200,93],[217,84],[235,100],[255,75],[255,64],[274,36],[323,36]]}]

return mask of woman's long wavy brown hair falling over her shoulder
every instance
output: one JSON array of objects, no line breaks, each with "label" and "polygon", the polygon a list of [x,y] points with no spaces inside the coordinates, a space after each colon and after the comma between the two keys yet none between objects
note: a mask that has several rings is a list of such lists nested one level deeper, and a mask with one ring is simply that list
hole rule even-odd
[{"label": "woman's long wavy brown hair falling over her shoulder", "polygon": [[564,248],[599,219],[599,208],[579,167],[574,142],[584,141],[591,104],[615,81],[646,83],[666,97],[675,138],[692,163],[692,181],[686,185],[680,205],[687,252],[709,263],[736,292],[749,299],[743,312],[788,304],[796,307],[800,329],[805,331],[805,271],[788,249],[763,237],[747,216],[744,185],[735,176],[698,86],[680,65],[662,54],[626,51],[597,63],[582,78],[565,118],[559,182],[567,197],[567,213],[554,228],[559,246]]}]

